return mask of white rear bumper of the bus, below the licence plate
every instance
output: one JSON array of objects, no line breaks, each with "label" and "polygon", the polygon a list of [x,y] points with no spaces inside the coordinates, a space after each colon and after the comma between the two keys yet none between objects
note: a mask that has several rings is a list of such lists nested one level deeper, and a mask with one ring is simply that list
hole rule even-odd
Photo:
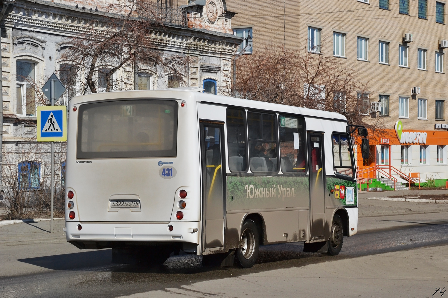
[{"label": "white rear bumper of the bus, below the licence plate", "polygon": [[[81,230],[78,230],[78,225]],[[168,226],[173,227],[172,231]],[[200,222],[75,222],[66,221],[67,241],[199,243]]]}]

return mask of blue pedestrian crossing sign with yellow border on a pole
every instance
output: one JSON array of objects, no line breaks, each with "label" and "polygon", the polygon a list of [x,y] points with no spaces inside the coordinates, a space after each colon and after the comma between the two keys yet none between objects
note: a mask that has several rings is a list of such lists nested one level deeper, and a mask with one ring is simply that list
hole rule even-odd
[{"label": "blue pedestrian crossing sign with yellow border on a pole", "polygon": [[67,107],[65,105],[37,107],[37,141],[67,141]]}]

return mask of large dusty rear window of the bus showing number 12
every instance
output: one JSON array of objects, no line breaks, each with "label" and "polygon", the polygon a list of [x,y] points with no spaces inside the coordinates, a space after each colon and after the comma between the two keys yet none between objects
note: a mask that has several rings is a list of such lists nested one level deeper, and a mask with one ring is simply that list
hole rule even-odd
[{"label": "large dusty rear window of the bus showing number 12", "polygon": [[176,156],[177,109],[177,101],[143,99],[81,105],[76,157]]}]

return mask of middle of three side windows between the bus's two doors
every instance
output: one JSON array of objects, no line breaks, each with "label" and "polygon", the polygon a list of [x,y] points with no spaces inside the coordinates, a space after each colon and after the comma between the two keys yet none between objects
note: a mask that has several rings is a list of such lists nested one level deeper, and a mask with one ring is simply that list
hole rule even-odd
[{"label": "middle of three side windows between the bus's two doors", "polygon": [[248,112],[249,164],[252,172],[278,172],[276,116]]}]

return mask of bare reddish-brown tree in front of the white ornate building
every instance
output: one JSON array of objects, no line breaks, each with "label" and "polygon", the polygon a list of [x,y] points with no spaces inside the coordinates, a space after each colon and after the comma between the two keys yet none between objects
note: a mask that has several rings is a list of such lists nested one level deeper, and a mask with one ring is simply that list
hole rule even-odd
[{"label": "bare reddish-brown tree in front of the white ornate building", "polygon": [[[92,20],[88,31],[67,41],[69,49],[62,58],[73,63],[80,80],[81,93],[134,89],[139,66],[162,72],[183,82],[187,58],[163,55],[154,44],[156,30],[163,30],[160,7],[151,0],[118,0],[102,8],[104,17]],[[171,9],[171,8],[166,8]],[[114,77],[124,69],[127,76]]]}]

